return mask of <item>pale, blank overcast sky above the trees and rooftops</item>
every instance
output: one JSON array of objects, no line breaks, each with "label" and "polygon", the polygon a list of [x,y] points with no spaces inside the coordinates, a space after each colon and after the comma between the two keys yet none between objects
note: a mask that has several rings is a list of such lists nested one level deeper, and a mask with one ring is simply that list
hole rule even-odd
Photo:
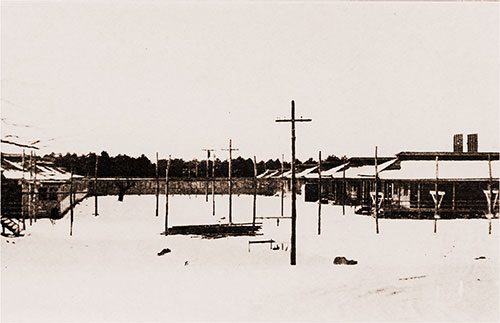
[{"label": "pale, blank overcast sky above the trees and rooftops", "polygon": [[[499,149],[499,4],[2,1],[2,138],[202,159]],[[30,125],[19,127],[12,124]],[[52,138],[54,138],[52,140]],[[5,145],[2,145],[4,151]]]}]

